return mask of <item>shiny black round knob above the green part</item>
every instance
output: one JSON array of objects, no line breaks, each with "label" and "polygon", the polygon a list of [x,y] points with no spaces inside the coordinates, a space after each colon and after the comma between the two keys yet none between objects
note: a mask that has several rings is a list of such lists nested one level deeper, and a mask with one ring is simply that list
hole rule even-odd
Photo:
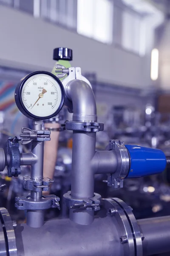
[{"label": "shiny black round knob above the green part", "polygon": [[64,48],[64,47],[55,48],[53,51],[53,59],[55,61],[58,61],[58,60],[72,61],[73,51],[72,49]]}]

